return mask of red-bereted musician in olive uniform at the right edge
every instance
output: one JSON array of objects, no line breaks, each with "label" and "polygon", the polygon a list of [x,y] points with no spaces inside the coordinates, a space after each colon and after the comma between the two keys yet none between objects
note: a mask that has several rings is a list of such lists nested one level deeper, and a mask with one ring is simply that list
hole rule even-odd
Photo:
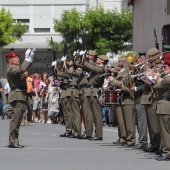
[{"label": "red-bereted musician in olive uniform at the right edge", "polygon": [[162,155],[158,161],[170,161],[170,53],[164,55],[164,77],[159,73],[154,74],[156,84],[153,89],[158,93],[156,115],[160,128]]}]

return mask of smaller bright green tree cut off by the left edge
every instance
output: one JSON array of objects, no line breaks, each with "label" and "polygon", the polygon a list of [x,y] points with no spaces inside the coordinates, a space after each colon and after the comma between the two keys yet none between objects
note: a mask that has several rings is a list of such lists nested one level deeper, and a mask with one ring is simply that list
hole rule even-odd
[{"label": "smaller bright green tree cut off by the left edge", "polygon": [[21,25],[21,22],[13,23],[12,15],[9,11],[4,8],[0,10],[0,47],[21,39],[26,31],[26,25]]}]

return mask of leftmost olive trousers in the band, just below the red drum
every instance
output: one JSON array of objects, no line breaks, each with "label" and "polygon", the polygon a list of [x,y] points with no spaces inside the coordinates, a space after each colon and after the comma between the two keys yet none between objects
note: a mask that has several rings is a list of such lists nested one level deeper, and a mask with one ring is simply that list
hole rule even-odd
[{"label": "leftmost olive trousers in the band, just below the red drum", "polygon": [[126,128],[121,105],[115,105],[115,115],[117,118],[118,137],[120,142],[126,142]]}]

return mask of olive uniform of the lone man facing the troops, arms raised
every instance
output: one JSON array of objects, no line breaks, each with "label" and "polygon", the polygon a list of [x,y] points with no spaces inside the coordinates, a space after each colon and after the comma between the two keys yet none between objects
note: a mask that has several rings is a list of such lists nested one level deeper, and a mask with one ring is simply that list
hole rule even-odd
[{"label": "olive uniform of the lone man facing the troops, arms raised", "polygon": [[8,102],[12,108],[9,145],[19,145],[19,128],[27,104],[27,84],[24,72],[27,71],[29,67],[30,63],[28,61],[24,61],[20,68],[16,66],[7,66],[7,80],[11,88]]}]

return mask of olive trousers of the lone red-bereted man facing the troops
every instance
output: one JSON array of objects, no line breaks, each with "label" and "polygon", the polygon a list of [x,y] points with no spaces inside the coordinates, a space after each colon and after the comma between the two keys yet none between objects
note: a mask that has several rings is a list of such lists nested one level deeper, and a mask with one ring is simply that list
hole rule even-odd
[{"label": "olive trousers of the lone red-bereted man facing the troops", "polygon": [[13,101],[10,103],[12,108],[12,118],[9,127],[9,145],[19,144],[19,128],[23,113],[26,110],[27,103],[24,101]]}]

